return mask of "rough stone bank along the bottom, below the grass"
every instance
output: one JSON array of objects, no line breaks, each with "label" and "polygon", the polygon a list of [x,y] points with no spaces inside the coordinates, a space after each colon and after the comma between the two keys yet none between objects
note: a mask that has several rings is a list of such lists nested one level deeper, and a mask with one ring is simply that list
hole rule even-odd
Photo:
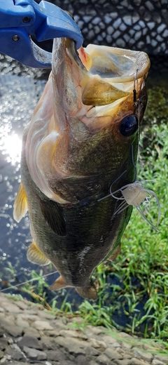
[{"label": "rough stone bank along the bottom, below the grass", "polygon": [[[42,305],[0,293],[0,364],[167,365],[162,343],[85,326]],[[81,330],[82,328],[82,330]]]}]

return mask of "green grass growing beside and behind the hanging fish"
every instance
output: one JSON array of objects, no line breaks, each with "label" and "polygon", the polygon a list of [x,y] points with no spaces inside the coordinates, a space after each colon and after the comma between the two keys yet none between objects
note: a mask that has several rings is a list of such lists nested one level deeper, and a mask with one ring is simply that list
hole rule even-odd
[{"label": "green grass growing beside and behind the hanging fish", "polygon": [[[165,87],[148,91],[148,109],[141,133],[138,161],[138,179],[152,180],[144,183],[158,195],[161,204],[159,231],[141,217],[134,208],[132,218],[122,239],[121,253],[114,263],[102,263],[94,271],[94,280],[99,291],[97,303],[84,300],[76,314],[86,324],[102,325],[112,331],[113,318],[125,317],[124,331],[143,338],[158,341],[168,340],[168,93]],[[153,199],[148,205],[151,221],[158,218],[158,204]],[[25,291],[46,306],[45,283],[42,273],[33,274],[38,284],[27,284]],[[36,276],[36,278],[35,278]],[[36,298],[34,293],[37,293]],[[62,308],[57,309],[57,295],[50,309],[73,315],[69,299],[64,291]],[[116,316],[116,317],[115,317]],[[76,326],[79,326],[76,323]]]}]

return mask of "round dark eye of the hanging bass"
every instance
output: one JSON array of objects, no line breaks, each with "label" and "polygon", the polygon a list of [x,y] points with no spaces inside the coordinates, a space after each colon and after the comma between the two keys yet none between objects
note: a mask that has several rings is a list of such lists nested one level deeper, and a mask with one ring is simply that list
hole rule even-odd
[{"label": "round dark eye of the hanging bass", "polygon": [[125,137],[133,135],[138,129],[138,120],[134,115],[128,115],[120,124],[120,133]]}]

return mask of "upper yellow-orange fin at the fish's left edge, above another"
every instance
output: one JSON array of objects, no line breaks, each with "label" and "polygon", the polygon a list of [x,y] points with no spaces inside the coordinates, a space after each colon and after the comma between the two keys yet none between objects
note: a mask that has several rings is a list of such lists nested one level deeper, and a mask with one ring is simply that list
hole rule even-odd
[{"label": "upper yellow-orange fin at the fish's left edge, above another", "polygon": [[16,220],[16,222],[19,223],[22,217],[24,217],[24,215],[26,214],[26,212],[27,212],[27,196],[22,183],[20,183],[18,194],[16,195],[15,203],[13,206],[13,218]]}]

